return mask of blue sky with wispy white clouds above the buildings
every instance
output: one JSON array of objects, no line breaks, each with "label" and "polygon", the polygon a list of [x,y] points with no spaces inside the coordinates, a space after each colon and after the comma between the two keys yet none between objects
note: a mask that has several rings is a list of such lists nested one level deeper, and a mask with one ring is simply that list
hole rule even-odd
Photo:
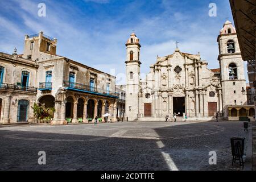
[{"label": "blue sky with wispy white clouds above the buildings", "polygon": [[[46,17],[38,16],[42,2]],[[208,15],[209,3],[216,3],[216,17]],[[233,22],[229,0],[0,0],[0,10],[1,52],[22,53],[24,35],[43,31],[58,39],[58,55],[111,73],[117,84],[125,84],[125,43],[133,30],[143,77],[157,55],[174,52],[176,40],[182,52],[200,52],[218,68],[217,36],[226,18]]]}]

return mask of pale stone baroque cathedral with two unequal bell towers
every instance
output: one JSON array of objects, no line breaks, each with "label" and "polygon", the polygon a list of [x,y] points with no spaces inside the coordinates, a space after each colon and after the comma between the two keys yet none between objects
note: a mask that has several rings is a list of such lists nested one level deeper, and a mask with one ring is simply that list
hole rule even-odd
[{"label": "pale stone baroque cathedral with two unequal bell towers", "polygon": [[241,92],[246,88],[246,79],[231,22],[225,22],[217,42],[220,68],[209,69],[199,54],[185,53],[177,47],[171,55],[157,57],[142,81],[141,43],[131,34],[125,62],[128,121],[163,121],[166,115],[188,121],[210,121],[216,116],[233,120],[241,115],[252,117],[254,111],[249,113],[246,95]]}]

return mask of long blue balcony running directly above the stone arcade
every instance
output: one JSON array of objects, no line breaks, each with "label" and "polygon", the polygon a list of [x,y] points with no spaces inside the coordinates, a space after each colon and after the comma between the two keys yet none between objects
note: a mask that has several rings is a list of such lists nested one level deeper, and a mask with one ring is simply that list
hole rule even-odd
[{"label": "long blue balcony running directly above the stone arcade", "polygon": [[106,96],[106,97],[119,98],[118,93],[110,92],[108,90],[92,87],[89,85],[82,85],[75,82],[64,81],[63,86],[66,87],[68,90],[96,94],[96,95]]}]

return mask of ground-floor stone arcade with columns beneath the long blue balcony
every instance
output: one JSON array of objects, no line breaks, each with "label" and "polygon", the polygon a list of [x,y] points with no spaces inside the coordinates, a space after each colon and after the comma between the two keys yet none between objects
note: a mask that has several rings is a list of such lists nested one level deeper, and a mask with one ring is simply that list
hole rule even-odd
[{"label": "ground-floor stone arcade with columns beneath the long blue balcony", "polygon": [[[106,119],[116,121],[114,116],[117,115],[117,101],[115,98],[66,91],[56,94],[56,97],[49,95],[39,97],[38,103],[55,107],[53,123],[65,122],[67,118],[71,118],[73,123],[79,122],[80,118],[82,122],[94,122],[96,116],[102,118],[102,122],[107,122]],[[103,117],[107,113],[110,116]]]}]

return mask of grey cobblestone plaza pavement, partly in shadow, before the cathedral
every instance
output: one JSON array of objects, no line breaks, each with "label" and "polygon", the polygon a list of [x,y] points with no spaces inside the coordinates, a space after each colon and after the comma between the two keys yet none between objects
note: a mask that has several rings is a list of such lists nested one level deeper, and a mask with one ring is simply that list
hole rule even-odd
[{"label": "grey cobblestone plaza pavement, partly in shadow, before the cathedral", "polygon": [[[241,170],[231,165],[232,137],[249,137],[242,122],[0,126],[0,169]],[[217,165],[209,165],[209,151]]]}]

